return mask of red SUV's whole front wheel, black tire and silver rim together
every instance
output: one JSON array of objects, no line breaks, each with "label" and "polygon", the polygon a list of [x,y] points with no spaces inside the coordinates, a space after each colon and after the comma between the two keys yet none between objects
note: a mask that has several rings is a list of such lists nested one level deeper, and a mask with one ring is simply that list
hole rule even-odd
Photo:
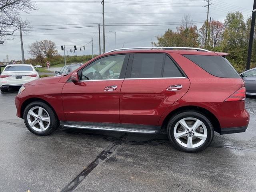
[{"label": "red SUV's whole front wheel, black tire and silver rim together", "polygon": [[26,127],[36,135],[49,135],[59,126],[54,111],[44,102],[32,102],[23,114]]}]

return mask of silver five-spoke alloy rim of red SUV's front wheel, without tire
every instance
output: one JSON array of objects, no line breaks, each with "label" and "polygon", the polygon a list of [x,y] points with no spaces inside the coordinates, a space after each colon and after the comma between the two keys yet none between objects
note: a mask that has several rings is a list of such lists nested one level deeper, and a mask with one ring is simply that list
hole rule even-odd
[{"label": "silver five-spoke alloy rim of red SUV's front wheel, without tire", "polygon": [[32,107],[28,111],[27,120],[29,126],[38,132],[45,131],[50,126],[50,116],[48,112],[39,106]]}]

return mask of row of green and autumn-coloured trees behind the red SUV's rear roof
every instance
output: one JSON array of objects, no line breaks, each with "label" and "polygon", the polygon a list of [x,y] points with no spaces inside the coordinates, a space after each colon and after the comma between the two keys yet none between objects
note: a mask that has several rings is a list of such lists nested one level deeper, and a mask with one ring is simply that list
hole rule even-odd
[{"label": "row of green and autumn-coloured trees behind the red SUV's rear roof", "polygon": [[[212,20],[208,24],[204,22],[201,28],[192,24],[188,15],[182,19],[183,25],[177,27],[176,31],[168,29],[164,35],[157,36],[158,42],[154,46],[181,46],[200,47],[211,51],[226,52],[228,60],[238,72],[246,68],[248,52],[251,17],[244,21],[241,12],[230,12],[224,22]],[[256,38],[256,30],[254,30]],[[256,41],[252,46],[251,68],[256,67]]]}]

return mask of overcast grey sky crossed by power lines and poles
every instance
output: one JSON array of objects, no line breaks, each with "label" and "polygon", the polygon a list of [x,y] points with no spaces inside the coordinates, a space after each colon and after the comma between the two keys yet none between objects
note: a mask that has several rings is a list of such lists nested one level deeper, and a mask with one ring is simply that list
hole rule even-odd
[{"label": "overcast grey sky crossed by power lines and poles", "polygon": [[[101,0],[37,1],[38,10],[30,14],[21,13],[21,17],[29,20],[33,26],[33,31],[23,34],[25,58],[31,57],[28,54],[28,46],[36,40],[54,41],[61,55],[64,55],[64,51],[60,46],[64,44],[70,55],[74,55],[69,52],[70,49],[74,49],[74,45],[78,49],[75,54],[92,54],[92,44],[89,43],[91,37],[93,37],[94,54],[99,54],[96,25],[101,25],[102,46],[100,2]],[[210,3],[212,3],[210,17],[221,21],[224,21],[226,14],[232,11],[242,12],[246,19],[251,15],[253,6],[253,0],[210,0]],[[204,7],[206,4],[204,0],[105,0],[106,51],[115,49],[115,35],[110,31],[116,32],[116,46],[122,48],[123,44],[124,47],[151,46],[150,42],[152,40],[156,42],[156,36],[164,34],[168,28],[176,30],[185,13],[189,13],[194,24],[200,28],[202,22],[206,20],[207,7]],[[81,28],[70,28],[78,26]],[[36,30],[46,28],[69,29]],[[9,60],[21,60],[19,32],[16,35],[10,37],[15,38],[14,40],[6,40],[4,44],[0,44],[0,61],[6,59],[7,54]],[[80,47],[85,44],[87,44],[86,50],[82,49],[80,52]]]}]

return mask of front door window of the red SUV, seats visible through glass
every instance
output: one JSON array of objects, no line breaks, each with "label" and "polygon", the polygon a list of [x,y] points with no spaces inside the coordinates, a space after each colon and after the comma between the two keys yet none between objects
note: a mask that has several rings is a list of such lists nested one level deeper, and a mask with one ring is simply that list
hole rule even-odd
[{"label": "front door window of the red SUV, seats visible through glass", "polygon": [[81,73],[80,80],[119,79],[125,55],[113,55],[100,58]]}]

